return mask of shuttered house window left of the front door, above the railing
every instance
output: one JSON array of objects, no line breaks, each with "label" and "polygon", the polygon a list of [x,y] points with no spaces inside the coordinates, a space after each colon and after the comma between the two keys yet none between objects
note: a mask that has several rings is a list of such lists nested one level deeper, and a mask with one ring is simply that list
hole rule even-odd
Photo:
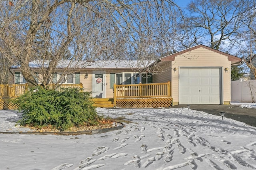
[{"label": "shuttered house window left of the front door, above the railing", "polygon": [[80,73],[63,75],[62,73],[54,73],[52,75],[52,83],[60,84],[79,84]]}]

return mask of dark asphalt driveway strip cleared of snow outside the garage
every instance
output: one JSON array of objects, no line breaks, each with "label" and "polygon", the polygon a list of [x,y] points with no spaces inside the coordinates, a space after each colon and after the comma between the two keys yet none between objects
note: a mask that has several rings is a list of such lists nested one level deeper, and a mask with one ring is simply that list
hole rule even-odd
[{"label": "dark asphalt driveway strip cleared of snow outside the garage", "polygon": [[[187,107],[187,105],[176,105],[172,108],[179,107]],[[220,112],[225,112],[225,117],[256,127],[256,109],[236,105],[190,105],[190,109],[218,116],[220,116]],[[225,119],[225,117],[223,117],[223,119]]]}]

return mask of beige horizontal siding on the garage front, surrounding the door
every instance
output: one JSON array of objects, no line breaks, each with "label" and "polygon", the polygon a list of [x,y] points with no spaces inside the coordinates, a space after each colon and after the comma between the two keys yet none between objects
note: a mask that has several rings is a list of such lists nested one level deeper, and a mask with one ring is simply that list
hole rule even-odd
[{"label": "beige horizontal siding on the garage front, surrounding the door", "polygon": [[[177,67],[176,73],[174,73],[173,68]],[[175,57],[175,60],[172,61],[172,97],[173,102],[179,101],[179,72],[182,67],[220,67],[222,69],[222,103],[230,102],[231,100],[231,73],[230,69],[225,72],[224,68],[230,68],[230,61],[226,55],[216,53],[214,51],[200,47],[192,51],[188,51],[182,55]]]}]

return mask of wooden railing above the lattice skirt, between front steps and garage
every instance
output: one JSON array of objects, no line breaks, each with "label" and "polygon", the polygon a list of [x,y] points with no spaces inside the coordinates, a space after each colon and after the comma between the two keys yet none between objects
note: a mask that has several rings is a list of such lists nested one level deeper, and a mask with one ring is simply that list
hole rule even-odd
[{"label": "wooden railing above the lattice skirt, between front steps and garage", "polygon": [[114,105],[116,99],[170,97],[170,81],[132,85],[114,84]]}]

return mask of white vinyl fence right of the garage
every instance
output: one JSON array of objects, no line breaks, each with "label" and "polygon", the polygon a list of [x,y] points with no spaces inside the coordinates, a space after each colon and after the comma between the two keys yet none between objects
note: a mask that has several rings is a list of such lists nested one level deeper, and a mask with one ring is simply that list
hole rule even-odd
[{"label": "white vinyl fence right of the garage", "polygon": [[255,103],[256,101],[256,80],[232,81],[231,101]]}]

